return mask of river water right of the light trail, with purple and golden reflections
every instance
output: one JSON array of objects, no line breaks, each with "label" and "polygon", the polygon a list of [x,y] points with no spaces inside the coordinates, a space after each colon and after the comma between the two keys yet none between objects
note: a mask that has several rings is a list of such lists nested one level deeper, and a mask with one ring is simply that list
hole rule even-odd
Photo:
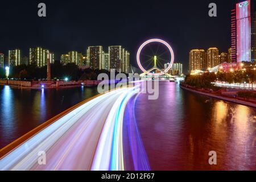
[{"label": "river water right of the light trail, with purple and golden reflections", "polygon": [[[153,170],[256,170],[256,109],[201,96],[180,89],[179,84],[159,82],[158,100],[139,94],[134,115]],[[134,169],[131,150],[129,112],[125,112],[125,166]],[[128,128],[128,129],[127,129]],[[130,139],[131,138],[131,139]],[[130,139],[130,141],[129,141]],[[143,149],[137,144],[137,161]],[[217,152],[217,165],[210,166],[209,151]],[[141,165],[140,164],[140,165]]]}]

